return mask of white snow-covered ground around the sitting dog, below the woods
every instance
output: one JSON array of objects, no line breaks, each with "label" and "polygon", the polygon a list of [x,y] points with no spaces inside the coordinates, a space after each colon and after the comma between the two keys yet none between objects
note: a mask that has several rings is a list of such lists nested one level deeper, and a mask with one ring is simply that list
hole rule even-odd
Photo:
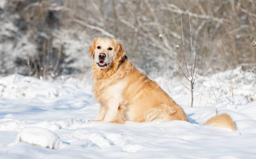
[{"label": "white snow-covered ground around the sitting dog, below the woods", "polygon": [[[99,104],[90,77],[65,82],[1,77],[0,158],[255,159],[256,75],[239,71],[197,77],[193,108],[179,80],[155,79],[190,123],[96,122]],[[238,130],[202,126],[215,109],[229,114]]]}]

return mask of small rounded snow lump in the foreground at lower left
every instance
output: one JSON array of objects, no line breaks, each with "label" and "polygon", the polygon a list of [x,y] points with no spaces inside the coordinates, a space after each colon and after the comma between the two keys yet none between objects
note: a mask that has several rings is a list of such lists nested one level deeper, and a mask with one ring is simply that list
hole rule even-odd
[{"label": "small rounded snow lump in the foreground at lower left", "polygon": [[59,149],[63,145],[59,136],[53,131],[39,127],[25,127],[21,129],[14,144],[17,144],[18,142],[27,142],[49,149]]}]

